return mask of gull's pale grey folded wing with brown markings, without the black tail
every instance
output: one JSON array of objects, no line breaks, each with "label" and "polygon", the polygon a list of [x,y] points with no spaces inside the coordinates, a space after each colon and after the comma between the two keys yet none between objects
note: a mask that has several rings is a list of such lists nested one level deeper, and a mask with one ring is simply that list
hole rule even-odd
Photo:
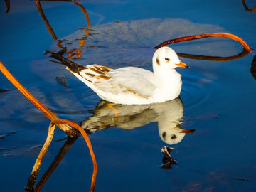
[{"label": "gull's pale grey folded wing with brown markings, without the black tail", "polygon": [[153,73],[142,68],[127,67],[112,70],[101,65],[87,65],[79,75],[90,81],[98,90],[115,95],[130,93],[150,97],[156,89],[150,82],[154,77]]}]

